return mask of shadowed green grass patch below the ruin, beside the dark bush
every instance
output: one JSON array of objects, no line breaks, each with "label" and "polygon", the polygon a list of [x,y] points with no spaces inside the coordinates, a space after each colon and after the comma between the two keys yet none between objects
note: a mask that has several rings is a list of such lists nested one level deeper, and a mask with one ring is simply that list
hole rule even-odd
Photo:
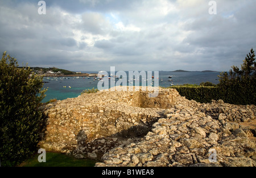
[{"label": "shadowed green grass patch below the ruin, beside the dark bush", "polygon": [[96,160],[76,159],[73,156],[56,152],[46,152],[46,163],[39,163],[38,156],[33,155],[26,162],[20,164],[22,167],[93,167]]}]

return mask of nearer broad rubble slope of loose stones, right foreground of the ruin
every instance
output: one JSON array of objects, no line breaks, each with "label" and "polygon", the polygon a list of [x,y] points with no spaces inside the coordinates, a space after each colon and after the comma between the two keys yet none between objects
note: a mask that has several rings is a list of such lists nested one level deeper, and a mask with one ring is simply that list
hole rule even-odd
[{"label": "nearer broad rubble slope of loose stones, right foreground of the ruin", "polygon": [[144,138],[110,150],[97,166],[256,165],[255,106],[187,104],[167,109]]}]

